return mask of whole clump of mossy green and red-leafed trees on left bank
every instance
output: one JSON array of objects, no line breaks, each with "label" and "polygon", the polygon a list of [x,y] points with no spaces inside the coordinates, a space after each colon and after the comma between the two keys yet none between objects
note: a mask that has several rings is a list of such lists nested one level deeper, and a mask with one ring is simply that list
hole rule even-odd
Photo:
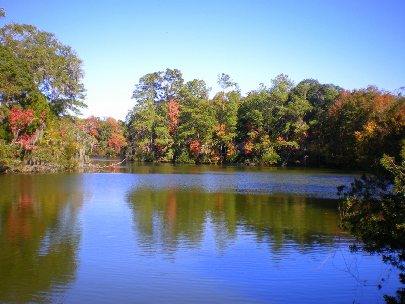
[{"label": "whole clump of mossy green and red-leafed trees on left bank", "polygon": [[0,171],[89,165],[94,136],[68,114],[83,103],[81,61],[53,34],[12,23],[0,29]]}]

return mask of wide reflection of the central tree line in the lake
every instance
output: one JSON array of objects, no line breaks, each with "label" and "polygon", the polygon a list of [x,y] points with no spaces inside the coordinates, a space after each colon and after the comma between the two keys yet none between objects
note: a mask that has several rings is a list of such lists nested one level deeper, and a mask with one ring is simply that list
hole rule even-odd
[{"label": "wide reflection of the central tree line in the lake", "polygon": [[[134,229],[145,253],[151,248],[176,252],[199,248],[212,231],[218,253],[235,241],[237,231],[254,234],[276,253],[293,241],[303,251],[331,245],[341,232],[337,202],[281,195],[205,193],[174,188],[137,187],[127,194]],[[329,205],[329,206],[328,206]]]}]

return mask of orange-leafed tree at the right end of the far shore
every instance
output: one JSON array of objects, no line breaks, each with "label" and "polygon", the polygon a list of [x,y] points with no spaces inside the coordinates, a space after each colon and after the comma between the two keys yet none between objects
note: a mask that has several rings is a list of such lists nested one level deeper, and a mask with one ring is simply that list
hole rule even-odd
[{"label": "orange-leafed tree at the right end of the far shore", "polygon": [[404,131],[401,98],[375,86],[342,91],[326,119],[329,161],[369,168],[383,154],[399,156]]}]

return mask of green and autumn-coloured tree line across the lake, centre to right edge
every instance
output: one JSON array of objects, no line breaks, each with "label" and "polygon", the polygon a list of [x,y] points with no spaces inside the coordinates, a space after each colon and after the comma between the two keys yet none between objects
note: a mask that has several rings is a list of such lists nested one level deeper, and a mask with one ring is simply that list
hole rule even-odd
[{"label": "green and autumn-coloured tree line across the lake, centre to right edge", "polygon": [[405,99],[375,86],[344,90],[284,74],[242,96],[227,74],[210,99],[203,80],[179,70],[140,78],[125,122],[134,160],[254,163],[368,169],[383,153],[398,157]]}]

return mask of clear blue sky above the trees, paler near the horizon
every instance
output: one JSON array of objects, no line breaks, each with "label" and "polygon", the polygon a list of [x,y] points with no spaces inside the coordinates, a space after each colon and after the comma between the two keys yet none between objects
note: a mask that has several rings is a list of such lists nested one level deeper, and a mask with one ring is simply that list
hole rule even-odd
[{"label": "clear blue sky above the trees, paler near the horizon", "polygon": [[[242,93],[278,74],[345,89],[405,86],[405,0],[2,0],[6,19],[54,33],[83,60],[84,117],[124,119],[147,73],[179,69]],[[212,97],[212,96],[211,96]]]}]

